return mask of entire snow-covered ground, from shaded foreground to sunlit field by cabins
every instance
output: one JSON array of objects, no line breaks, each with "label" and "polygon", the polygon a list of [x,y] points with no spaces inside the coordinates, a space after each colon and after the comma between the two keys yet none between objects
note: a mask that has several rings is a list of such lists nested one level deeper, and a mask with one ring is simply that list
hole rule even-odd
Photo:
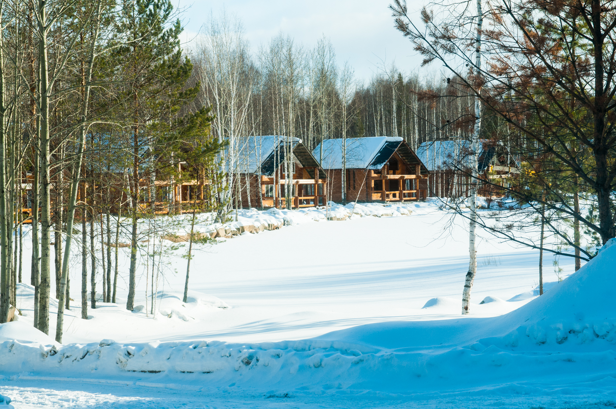
[{"label": "entire snow-covered ground, from shaded foreground to sunlit field by cabins", "polygon": [[[463,219],[450,223],[430,202],[376,206],[355,206],[366,216],[350,219],[338,206],[344,221],[243,211],[236,225],[286,225],[198,248],[187,303],[185,248],[163,240],[177,273],[164,270],[154,317],[124,309],[121,248],[118,304],[81,320],[76,259],[76,302],[54,348],[53,332],[31,329],[33,291],[20,285],[24,315],[0,325],[0,394],[15,408],[616,406],[616,246],[562,283],[548,256],[549,290],[537,298],[537,251],[486,236],[463,317]],[[559,267],[567,277],[572,259]]]}]

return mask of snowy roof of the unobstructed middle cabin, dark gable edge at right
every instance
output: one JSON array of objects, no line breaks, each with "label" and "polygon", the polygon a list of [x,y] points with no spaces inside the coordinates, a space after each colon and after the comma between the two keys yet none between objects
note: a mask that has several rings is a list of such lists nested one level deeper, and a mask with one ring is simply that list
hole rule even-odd
[{"label": "snowy roof of the unobstructed middle cabin, dark gable edge at right", "polygon": [[[342,143],[343,139],[323,140],[323,162],[321,163],[323,169],[342,169]],[[379,136],[347,138],[346,168],[381,169],[394,152],[398,152],[407,164],[423,165],[402,138]],[[321,144],[312,151],[312,156],[315,158],[319,158],[320,154]],[[426,171],[424,166],[423,170]]]}]

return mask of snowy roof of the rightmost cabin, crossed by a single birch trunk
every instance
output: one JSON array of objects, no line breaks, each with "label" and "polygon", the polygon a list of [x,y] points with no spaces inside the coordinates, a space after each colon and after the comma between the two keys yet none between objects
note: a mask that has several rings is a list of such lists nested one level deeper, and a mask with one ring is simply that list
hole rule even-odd
[{"label": "snowy roof of the rightmost cabin, crossed by a single birch trunk", "polygon": [[[494,144],[482,140],[477,158],[477,169],[482,172],[488,167],[496,148]],[[468,140],[434,140],[424,142],[417,148],[417,156],[426,164],[429,171],[443,169],[468,169],[470,161],[470,142]]]}]

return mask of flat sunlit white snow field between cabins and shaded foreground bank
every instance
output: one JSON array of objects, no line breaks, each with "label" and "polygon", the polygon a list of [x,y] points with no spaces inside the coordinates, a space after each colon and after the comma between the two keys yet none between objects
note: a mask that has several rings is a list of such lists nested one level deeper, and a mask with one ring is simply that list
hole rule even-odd
[{"label": "flat sunlit white snow field between cabins and shaded foreground bank", "polygon": [[[409,209],[411,215],[402,216]],[[182,256],[187,243],[140,243],[135,304],[144,306],[140,312],[124,307],[130,249],[120,248],[118,304],[99,302],[97,309],[88,309],[89,320],[80,318],[81,256],[75,253],[70,264],[71,298],[75,301],[71,302],[71,310],[65,312],[63,341],[280,341],[312,338],[364,323],[459,316],[460,293],[468,266],[463,221],[462,227],[450,225],[447,214],[429,202],[336,205],[328,210],[327,216],[342,217],[351,212],[354,216],[344,221],[327,221],[323,209],[240,211],[238,221],[230,222],[229,227],[256,225],[257,220],[268,218],[286,225],[258,234],[244,232],[232,239],[219,238],[219,243],[211,247],[195,246],[188,303],[181,301],[186,263]],[[360,213],[368,217],[360,217]],[[190,218],[177,219],[180,217]],[[171,223],[173,219],[176,218],[161,217],[156,223],[167,221],[176,229],[172,233],[184,234],[180,229],[185,227],[176,227]],[[147,228],[147,223],[142,222],[140,228]],[[201,215],[197,230],[206,232],[209,225]],[[142,237],[147,239],[145,233]],[[24,259],[28,263],[30,243],[26,240],[25,245]],[[150,314],[149,295],[152,263],[145,256],[147,246],[151,253],[153,245],[157,251],[162,245],[164,253],[154,300],[160,314],[154,318]],[[572,261],[563,260],[561,265],[565,275],[572,272]],[[471,315],[505,314],[532,298],[532,294],[527,294],[520,302],[478,305],[486,296],[511,299],[517,294],[532,293],[537,286],[536,252],[482,240],[478,267]],[[29,269],[29,263],[25,264],[23,270]],[[99,265],[97,288],[100,271]],[[555,280],[556,275],[546,272],[545,281]],[[52,280],[52,294],[53,284]],[[422,308],[435,297],[452,301]],[[227,308],[214,305],[213,300]],[[24,314],[20,320],[31,323],[30,285],[18,288],[17,304]],[[50,336],[54,338],[57,301],[52,299],[51,304]]]}]

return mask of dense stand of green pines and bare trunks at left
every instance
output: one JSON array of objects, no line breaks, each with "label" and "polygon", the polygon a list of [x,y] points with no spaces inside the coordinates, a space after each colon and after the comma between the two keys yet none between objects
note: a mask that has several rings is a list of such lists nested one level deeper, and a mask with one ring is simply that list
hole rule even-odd
[{"label": "dense stand of green pines and bare trunks at left", "polygon": [[[200,84],[190,83],[193,65],[182,53],[182,27],[171,2],[4,1],[0,20],[0,322],[25,278],[22,232],[30,222],[34,326],[49,333],[54,264],[61,342],[71,251],[81,250],[87,318],[88,262],[92,306],[99,264],[105,266],[99,276],[103,301],[115,301],[110,214],[124,212],[131,230],[132,310],[137,221],[156,214],[156,203],[174,184],[215,180],[224,144],[209,134],[209,108],[190,105]],[[182,166],[187,161],[190,166]],[[156,178],[170,182],[157,188]],[[215,184],[199,188],[201,201],[193,206],[216,208]],[[120,217],[116,224],[117,249]],[[94,248],[99,233],[107,245],[100,252]]]}]

